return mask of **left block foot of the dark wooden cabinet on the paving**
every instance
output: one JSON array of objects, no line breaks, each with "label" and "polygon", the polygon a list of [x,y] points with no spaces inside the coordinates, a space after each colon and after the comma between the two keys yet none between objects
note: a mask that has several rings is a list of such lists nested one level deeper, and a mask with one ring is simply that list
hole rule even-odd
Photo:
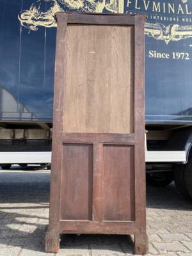
[{"label": "left block foot of the dark wooden cabinet on the paving", "polygon": [[60,233],[47,231],[45,235],[45,252],[57,253],[60,248]]}]

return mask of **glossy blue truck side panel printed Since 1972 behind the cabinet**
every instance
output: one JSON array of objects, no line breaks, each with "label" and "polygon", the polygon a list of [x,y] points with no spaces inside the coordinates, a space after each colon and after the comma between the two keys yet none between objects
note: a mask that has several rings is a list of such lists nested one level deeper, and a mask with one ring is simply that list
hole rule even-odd
[{"label": "glossy blue truck side panel printed Since 1972 behind the cabinet", "polygon": [[52,121],[54,15],[62,10],[147,14],[146,123],[192,122],[189,0],[0,0],[0,120]]}]

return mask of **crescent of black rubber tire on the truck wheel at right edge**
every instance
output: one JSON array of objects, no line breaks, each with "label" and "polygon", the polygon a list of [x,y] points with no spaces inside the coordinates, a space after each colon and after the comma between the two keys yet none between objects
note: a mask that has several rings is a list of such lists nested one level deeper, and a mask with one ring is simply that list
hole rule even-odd
[{"label": "crescent of black rubber tire on the truck wheel at right edge", "polygon": [[[187,165],[187,164],[186,164]],[[174,181],[175,181],[175,186],[179,190],[179,192],[184,195],[186,198],[189,198],[189,193],[188,190],[186,189],[186,184],[185,184],[185,170],[186,170],[186,165],[185,164],[177,164],[175,165],[175,170],[174,170]]]}]

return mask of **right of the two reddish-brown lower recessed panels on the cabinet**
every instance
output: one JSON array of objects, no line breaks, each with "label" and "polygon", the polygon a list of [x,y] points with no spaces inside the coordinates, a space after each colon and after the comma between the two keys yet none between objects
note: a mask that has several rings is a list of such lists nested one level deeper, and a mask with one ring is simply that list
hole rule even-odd
[{"label": "right of the two reddish-brown lower recessed panels on the cabinet", "polygon": [[104,145],[102,219],[134,220],[134,147]]}]

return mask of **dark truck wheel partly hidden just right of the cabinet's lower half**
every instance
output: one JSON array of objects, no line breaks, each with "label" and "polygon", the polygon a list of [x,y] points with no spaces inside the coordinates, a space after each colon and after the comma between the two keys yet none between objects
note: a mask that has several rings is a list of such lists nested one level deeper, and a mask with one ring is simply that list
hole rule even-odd
[{"label": "dark truck wheel partly hidden just right of the cabinet's lower half", "polygon": [[[165,175],[166,174],[166,175]],[[172,173],[147,173],[147,183],[156,187],[168,186],[173,181]]]}]

